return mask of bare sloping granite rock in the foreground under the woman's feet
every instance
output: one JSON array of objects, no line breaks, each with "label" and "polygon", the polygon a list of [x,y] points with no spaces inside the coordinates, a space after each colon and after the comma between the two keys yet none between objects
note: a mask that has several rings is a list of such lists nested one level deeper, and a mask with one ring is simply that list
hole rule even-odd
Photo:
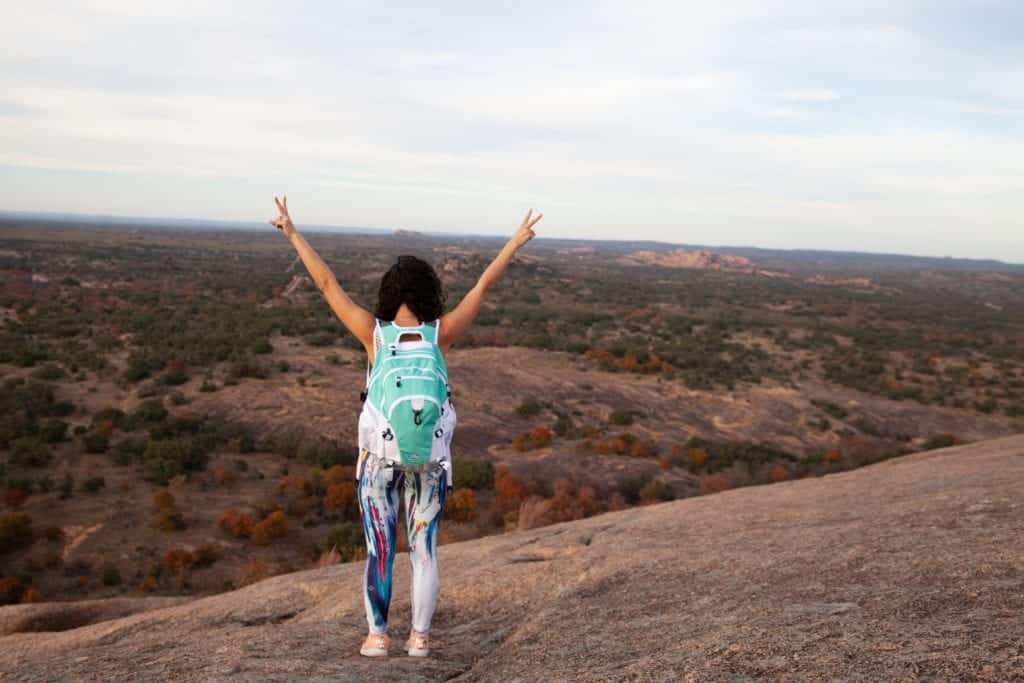
[{"label": "bare sloping granite rock in the foreground under the woman's feet", "polygon": [[361,564],[0,638],[3,681],[1024,681],[1024,435],[441,546],[434,651]]}]

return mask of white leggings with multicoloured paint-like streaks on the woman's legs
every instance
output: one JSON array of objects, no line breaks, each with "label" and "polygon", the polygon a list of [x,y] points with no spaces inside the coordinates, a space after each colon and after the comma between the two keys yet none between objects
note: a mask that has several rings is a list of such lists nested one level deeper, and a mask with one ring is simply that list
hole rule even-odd
[{"label": "white leggings with multicoloured paint-like streaks on the woman's legs", "polygon": [[430,630],[439,588],[437,527],[444,509],[446,484],[443,469],[407,472],[385,468],[382,459],[359,452],[358,500],[367,540],[362,598],[371,633],[387,630],[399,489],[406,500],[409,558],[413,563],[413,628],[420,632]]}]

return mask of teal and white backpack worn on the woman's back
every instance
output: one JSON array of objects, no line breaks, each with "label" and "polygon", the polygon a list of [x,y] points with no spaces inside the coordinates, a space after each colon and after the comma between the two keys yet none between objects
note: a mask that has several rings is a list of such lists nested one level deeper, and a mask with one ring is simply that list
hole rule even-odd
[{"label": "teal and white backpack worn on the woman's back", "polygon": [[[449,399],[447,367],[437,345],[438,322],[402,327],[377,321],[376,357],[367,371],[364,412],[373,416],[371,440],[402,465],[426,465],[443,451]],[[402,335],[420,341],[402,341]],[[449,435],[451,439],[451,435]]]}]

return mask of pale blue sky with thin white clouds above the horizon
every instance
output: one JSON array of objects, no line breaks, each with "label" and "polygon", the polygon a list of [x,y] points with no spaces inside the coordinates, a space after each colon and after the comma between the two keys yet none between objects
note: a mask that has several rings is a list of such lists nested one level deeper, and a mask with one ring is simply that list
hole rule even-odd
[{"label": "pale blue sky with thin white clouds above the horizon", "polygon": [[1021,36],[1019,0],[34,0],[0,210],[1021,263]]}]

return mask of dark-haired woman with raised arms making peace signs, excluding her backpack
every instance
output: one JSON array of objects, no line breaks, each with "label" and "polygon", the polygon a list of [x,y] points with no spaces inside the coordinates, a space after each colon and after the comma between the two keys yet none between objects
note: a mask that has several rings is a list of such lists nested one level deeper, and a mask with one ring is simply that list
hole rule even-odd
[{"label": "dark-haired woman with raised arms making peace signs, excluding her backpack", "polygon": [[[526,217],[515,234],[486,267],[473,289],[454,310],[446,313],[443,310],[444,295],[440,280],[430,264],[415,256],[399,256],[381,280],[376,315],[373,315],[345,294],[331,269],[295,229],[288,213],[288,198],[279,202],[275,197],[273,201],[281,215],[270,223],[291,240],[335,314],[362,343],[367,350],[368,367],[373,367],[377,350],[382,345],[382,323],[393,326],[389,327],[389,334],[394,336],[394,336],[395,344],[423,344],[427,341],[435,344],[441,353],[447,351],[472,324],[487,290],[501,278],[516,251],[534,238],[534,225],[542,217],[541,214],[534,217],[532,209],[526,212]],[[450,437],[455,413],[451,411],[451,404],[449,409]],[[387,654],[391,567],[395,551],[398,496],[402,495],[413,569],[413,628],[406,642],[406,651],[414,656],[426,656],[429,653],[430,620],[438,594],[437,526],[451,485],[451,467],[402,469],[395,467],[394,463],[386,462],[379,454],[369,453],[370,441],[362,438],[361,428],[366,418],[365,407],[360,416],[360,447],[356,471],[359,510],[367,542],[362,596],[370,633],[359,652],[367,656]],[[441,481],[445,471],[449,478]]]}]

